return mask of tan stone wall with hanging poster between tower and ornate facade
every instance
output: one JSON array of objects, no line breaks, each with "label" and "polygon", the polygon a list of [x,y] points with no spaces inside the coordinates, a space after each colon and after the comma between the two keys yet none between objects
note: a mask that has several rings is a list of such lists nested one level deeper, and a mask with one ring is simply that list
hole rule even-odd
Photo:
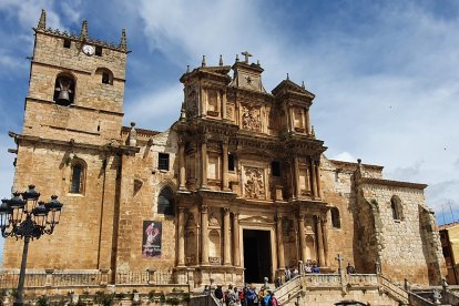
[{"label": "tan stone wall with hanging poster between tower and ornate facade", "polygon": [[[176,217],[157,213],[157,197],[163,187],[176,191],[176,134],[164,132],[152,136],[152,145],[141,144],[139,153],[123,156],[121,204],[118,231],[118,271],[172,268],[175,265]],[[159,153],[170,154],[170,171],[157,169]],[[134,191],[134,180],[141,184]],[[162,223],[161,257],[143,257],[143,222]]]}]

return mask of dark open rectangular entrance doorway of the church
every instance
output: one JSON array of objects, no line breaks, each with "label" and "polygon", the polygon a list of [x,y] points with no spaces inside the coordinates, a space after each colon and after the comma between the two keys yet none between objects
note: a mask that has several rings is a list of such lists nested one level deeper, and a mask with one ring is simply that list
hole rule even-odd
[{"label": "dark open rectangular entrance doorway of the church", "polygon": [[244,268],[245,283],[263,283],[267,277],[269,283],[271,262],[271,233],[269,231],[244,230]]}]

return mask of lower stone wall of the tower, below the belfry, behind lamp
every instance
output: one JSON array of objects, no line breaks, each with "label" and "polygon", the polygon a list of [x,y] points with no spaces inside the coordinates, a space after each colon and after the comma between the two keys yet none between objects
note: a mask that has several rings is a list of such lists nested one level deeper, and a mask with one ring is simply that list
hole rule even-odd
[{"label": "lower stone wall of the tower, below the belfry, behind lamp", "polygon": [[[110,212],[115,203],[118,159],[109,152],[40,142],[22,142],[18,149],[13,188],[23,192],[28,184],[35,184],[41,193],[40,200],[48,202],[51,195],[57,194],[58,200],[64,203],[61,222],[54,233],[30,244],[28,267],[102,267],[99,257],[103,254],[110,258],[111,253],[113,220]],[[83,193],[70,193],[71,156],[86,165]],[[21,249],[22,241],[6,239],[3,267],[19,267]]]}]

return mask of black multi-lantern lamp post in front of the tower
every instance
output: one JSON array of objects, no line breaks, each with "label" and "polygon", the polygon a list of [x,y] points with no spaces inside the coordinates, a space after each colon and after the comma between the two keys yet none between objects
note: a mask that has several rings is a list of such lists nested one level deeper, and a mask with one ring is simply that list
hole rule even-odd
[{"label": "black multi-lantern lamp post in front of the tower", "polygon": [[52,195],[48,203],[38,201],[40,193],[35,191],[35,186],[29,185],[28,191],[23,193],[14,192],[12,198],[3,198],[0,205],[1,235],[4,238],[24,238],[18,297],[13,304],[14,306],[22,306],[23,304],[27,254],[30,239],[38,239],[44,234],[51,235],[55,225],[59,224],[61,215],[63,204],[58,201],[57,195]]}]

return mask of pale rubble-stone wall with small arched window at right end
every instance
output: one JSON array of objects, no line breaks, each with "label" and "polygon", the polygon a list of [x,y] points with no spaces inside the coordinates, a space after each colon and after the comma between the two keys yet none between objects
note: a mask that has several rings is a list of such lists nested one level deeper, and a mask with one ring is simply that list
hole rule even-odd
[{"label": "pale rubble-stone wall with small arched window at right end", "polygon": [[[401,201],[401,217],[392,216],[390,200],[397,196]],[[422,190],[388,186],[380,184],[363,184],[359,186],[359,206],[368,213],[361,214],[360,224],[371,224],[375,220],[375,238],[373,231],[363,231],[363,254],[374,254],[381,263],[381,272],[392,279],[402,282],[412,279],[418,284],[428,284],[428,266],[430,249],[420,231],[419,208],[425,206]],[[377,245],[375,245],[375,242]],[[377,249],[375,249],[375,247]],[[375,258],[378,259],[378,258]]]}]

